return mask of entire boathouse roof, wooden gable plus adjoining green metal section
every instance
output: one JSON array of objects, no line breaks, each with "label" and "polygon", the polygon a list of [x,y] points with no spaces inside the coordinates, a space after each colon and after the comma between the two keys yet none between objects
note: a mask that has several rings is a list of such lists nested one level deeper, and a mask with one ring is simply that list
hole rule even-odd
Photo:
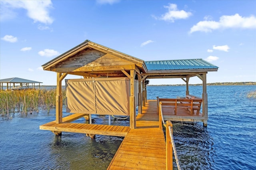
[{"label": "entire boathouse roof, wooden gable plus adjoining green metal section", "polygon": [[218,67],[203,59],[143,61],[89,40],[66,51],[48,63],[44,70],[86,77],[125,77],[136,70],[147,78],[198,76]]}]

